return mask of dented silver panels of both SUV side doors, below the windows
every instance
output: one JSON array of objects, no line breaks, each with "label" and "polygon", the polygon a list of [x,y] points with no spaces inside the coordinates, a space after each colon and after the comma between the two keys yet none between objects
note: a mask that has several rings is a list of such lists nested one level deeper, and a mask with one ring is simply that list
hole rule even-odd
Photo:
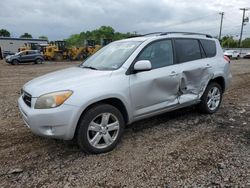
[{"label": "dented silver panels of both SUV side doors, below the windows", "polygon": [[213,76],[209,65],[190,66],[188,63],[132,75],[130,93],[134,116],[199,101]]}]

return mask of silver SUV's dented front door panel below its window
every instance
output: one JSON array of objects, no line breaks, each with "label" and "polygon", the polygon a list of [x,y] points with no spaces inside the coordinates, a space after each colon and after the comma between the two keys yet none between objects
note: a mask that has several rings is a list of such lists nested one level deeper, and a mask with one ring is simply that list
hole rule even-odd
[{"label": "silver SUV's dented front door panel below its window", "polygon": [[131,76],[130,92],[134,116],[178,104],[178,67],[179,65],[172,65]]}]

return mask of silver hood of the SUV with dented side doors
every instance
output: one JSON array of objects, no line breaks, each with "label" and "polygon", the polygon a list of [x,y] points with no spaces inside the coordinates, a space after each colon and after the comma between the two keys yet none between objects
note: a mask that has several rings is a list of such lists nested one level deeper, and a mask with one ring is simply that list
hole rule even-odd
[{"label": "silver hood of the SUV with dented side doors", "polygon": [[35,78],[26,83],[23,89],[32,97],[39,97],[54,91],[74,91],[79,86],[103,81],[111,75],[111,72],[72,67]]}]

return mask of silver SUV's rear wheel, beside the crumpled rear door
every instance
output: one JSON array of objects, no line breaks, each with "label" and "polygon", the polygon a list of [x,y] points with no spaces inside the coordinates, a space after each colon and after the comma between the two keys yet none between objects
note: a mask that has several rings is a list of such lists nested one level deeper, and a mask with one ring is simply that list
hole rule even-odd
[{"label": "silver SUV's rear wheel, beside the crumpled rear door", "polygon": [[211,82],[201,97],[199,109],[208,114],[216,112],[222,101],[222,89],[216,82]]}]

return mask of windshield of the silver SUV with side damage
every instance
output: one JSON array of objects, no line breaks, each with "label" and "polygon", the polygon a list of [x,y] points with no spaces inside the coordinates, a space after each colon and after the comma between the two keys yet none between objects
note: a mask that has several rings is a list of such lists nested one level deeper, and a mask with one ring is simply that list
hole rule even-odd
[{"label": "windshield of the silver SUV with side damage", "polygon": [[96,52],[80,67],[96,70],[116,70],[129,58],[141,44],[138,41],[114,42]]}]

